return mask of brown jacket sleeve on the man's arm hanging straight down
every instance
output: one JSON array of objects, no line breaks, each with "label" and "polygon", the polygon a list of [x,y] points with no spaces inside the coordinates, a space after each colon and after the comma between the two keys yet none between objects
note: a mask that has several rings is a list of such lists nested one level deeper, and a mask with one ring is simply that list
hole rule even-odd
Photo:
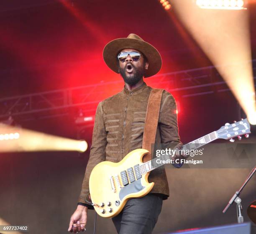
[{"label": "brown jacket sleeve on the man's arm hanging straight down", "polygon": [[89,191],[89,178],[92,169],[98,163],[105,161],[107,145],[107,132],[105,131],[105,124],[103,121],[102,102],[97,106],[95,114],[95,122],[92,133],[92,146],[90,149],[90,158],[85,170],[84,181],[82,183],[82,190],[78,199],[78,203],[87,203],[85,199],[90,193]]}]

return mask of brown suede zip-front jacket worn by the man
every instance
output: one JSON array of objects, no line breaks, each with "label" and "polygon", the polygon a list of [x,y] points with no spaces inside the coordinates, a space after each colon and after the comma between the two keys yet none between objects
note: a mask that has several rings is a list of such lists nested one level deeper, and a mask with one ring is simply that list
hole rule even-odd
[{"label": "brown suede zip-front jacket worn by the man", "polygon": [[[142,86],[129,91],[123,89],[118,94],[100,102],[92,135],[90,158],[82,183],[79,203],[85,201],[89,191],[89,178],[92,169],[102,161],[119,162],[125,155],[142,148],[143,129],[151,87]],[[172,94],[164,90],[161,98],[156,143],[180,143],[176,102]],[[153,170],[149,182],[155,182],[151,193],[169,196],[169,186],[164,168]]]}]

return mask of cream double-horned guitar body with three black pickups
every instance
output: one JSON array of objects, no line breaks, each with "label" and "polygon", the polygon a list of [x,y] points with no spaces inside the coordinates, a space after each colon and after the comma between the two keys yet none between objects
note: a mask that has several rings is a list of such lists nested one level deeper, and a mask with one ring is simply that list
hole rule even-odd
[{"label": "cream double-horned guitar body with three black pickups", "polygon": [[[118,163],[105,161],[93,168],[89,187],[97,214],[105,218],[113,218],[122,211],[129,198],[139,198],[151,191],[154,183],[148,183],[149,172],[136,176],[136,168],[134,169],[135,165],[143,163],[142,158],[146,153],[148,150],[133,150]],[[134,181],[131,168],[133,168]],[[127,173],[127,184],[124,174],[120,174],[122,171]]]}]

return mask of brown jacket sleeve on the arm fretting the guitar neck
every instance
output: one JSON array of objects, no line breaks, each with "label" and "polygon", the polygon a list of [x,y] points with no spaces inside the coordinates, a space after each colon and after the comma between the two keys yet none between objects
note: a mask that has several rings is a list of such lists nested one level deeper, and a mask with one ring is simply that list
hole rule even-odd
[{"label": "brown jacket sleeve on the arm fretting the guitar neck", "polygon": [[[161,107],[159,113],[159,126],[161,133],[161,143],[169,145],[172,148],[179,148],[182,146],[182,142],[179,137],[179,128],[177,121],[177,104],[174,97],[169,92],[165,91],[162,95]],[[174,157],[176,159],[177,157]],[[187,158],[184,155],[180,155],[179,158]],[[180,168],[183,163],[176,164],[174,167]]]}]

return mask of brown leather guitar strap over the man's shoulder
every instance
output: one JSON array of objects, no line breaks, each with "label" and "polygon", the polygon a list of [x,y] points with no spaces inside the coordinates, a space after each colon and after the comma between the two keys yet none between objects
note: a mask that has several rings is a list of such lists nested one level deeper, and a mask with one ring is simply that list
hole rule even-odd
[{"label": "brown leather guitar strap over the man's shoulder", "polygon": [[164,89],[152,89],[149,94],[142,148],[148,150],[150,153],[143,157],[143,162],[151,160],[151,144],[154,144],[156,140],[156,130],[163,91]]}]

